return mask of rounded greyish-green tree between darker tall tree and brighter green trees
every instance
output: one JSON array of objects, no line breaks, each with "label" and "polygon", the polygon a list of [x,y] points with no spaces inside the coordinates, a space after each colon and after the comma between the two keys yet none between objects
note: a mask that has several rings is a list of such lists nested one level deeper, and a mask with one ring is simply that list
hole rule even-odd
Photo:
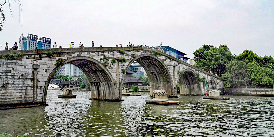
[{"label": "rounded greyish-green tree between darker tall tree and brighter green trees", "polygon": [[226,65],[227,72],[223,74],[222,80],[225,87],[235,87],[248,84],[247,64],[244,61],[231,61]]}]

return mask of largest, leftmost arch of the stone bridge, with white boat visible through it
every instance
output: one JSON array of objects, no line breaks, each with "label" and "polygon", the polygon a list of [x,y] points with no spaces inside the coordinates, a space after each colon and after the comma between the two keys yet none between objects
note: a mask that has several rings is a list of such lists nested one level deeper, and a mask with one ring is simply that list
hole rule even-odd
[{"label": "largest, leftmost arch of the stone bridge, with white boat visible through it", "polygon": [[[102,100],[121,99],[121,95],[117,92],[116,82],[114,81],[109,70],[99,61],[86,57],[76,56],[68,58],[63,62],[75,65],[85,73],[90,83],[91,98]],[[46,85],[43,90],[43,102],[46,102],[47,88],[51,78],[62,65],[56,66],[47,78]]]}]

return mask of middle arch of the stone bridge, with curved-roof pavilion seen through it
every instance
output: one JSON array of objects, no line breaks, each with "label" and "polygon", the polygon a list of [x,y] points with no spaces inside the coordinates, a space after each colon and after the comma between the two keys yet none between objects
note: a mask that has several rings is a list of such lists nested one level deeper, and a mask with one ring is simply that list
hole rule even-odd
[{"label": "middle arch of the stone bridge, with curved-roof pavilion seen through it", "polygon": [[[137,61],[145,69],[149,78],[149,84],[151,90],[166,90],[168,96],[176,96],[174,91],[174,84],[170,75],[170,72],[164,62],[153,54],[141,54],[136,58],[133,58],[127,65],[125,72],[127,72],[130,65]],[[125,73],[122,76],[120,87],[122,87]],[[120,88],[121,90],[121,88]],[[150,93],[152,92],[150,91]]]}]

